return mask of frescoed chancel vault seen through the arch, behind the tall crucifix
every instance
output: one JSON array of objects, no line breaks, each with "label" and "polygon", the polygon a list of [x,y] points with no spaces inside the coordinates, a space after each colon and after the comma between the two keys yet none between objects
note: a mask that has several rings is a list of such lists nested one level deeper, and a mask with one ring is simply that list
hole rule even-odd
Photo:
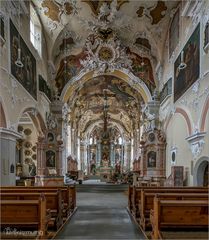
[{"label": "frescoed chancel vault seen through the arch, behind the tall crucifix", "polygon": [[85,131],[91,124],[103,122],[104,90],[107,94],[111,123],[123,126],[127,132],[140,119],[143,100],[138,92],[123,80],[113,76],[95,77],[78,88],[68,101],[74,126]]}]

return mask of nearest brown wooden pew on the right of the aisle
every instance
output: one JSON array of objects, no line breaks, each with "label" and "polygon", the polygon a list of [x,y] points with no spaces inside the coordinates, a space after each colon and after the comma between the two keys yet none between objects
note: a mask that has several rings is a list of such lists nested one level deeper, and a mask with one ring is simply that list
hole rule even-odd
[{"label": "nearest brown wooden pew on the right of the aisle", "polygon": [[208,229],[207,200],[161,200],[154,198],[150,212],[152,239],[163,239],[164,229]]}]

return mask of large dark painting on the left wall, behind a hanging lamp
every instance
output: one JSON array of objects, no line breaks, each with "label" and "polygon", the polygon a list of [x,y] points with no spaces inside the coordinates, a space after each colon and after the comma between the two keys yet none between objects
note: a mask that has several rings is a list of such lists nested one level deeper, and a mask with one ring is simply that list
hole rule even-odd
[{"label": "large dark painting on the left wall, behind a hanging lamp", "polygon": [[[18,48],[21,49],[23,66],[15,64],[18,57]],[[36,60],[29,48],[19,35],[15,25],[10,19],[10,64],[11,73],[17,81],[37,100]]]}]

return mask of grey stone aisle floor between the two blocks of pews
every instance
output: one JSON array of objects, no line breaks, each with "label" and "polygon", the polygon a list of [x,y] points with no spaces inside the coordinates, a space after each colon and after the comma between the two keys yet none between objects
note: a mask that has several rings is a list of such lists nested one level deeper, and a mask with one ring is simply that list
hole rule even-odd
[{"label": "grey stone aisle floor between the two blocks of pews", "polygon": [[77,206],[56,239],[145,239],[126,210],[123,192],[78,192]]}]

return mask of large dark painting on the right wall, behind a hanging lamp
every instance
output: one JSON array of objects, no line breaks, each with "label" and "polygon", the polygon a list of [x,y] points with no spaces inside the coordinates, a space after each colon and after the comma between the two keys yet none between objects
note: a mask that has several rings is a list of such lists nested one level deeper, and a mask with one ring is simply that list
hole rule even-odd
[{"label": "large dark painting on the right wall, behind a hanging lamp", "polygon": [[[183,52],[183,54],[182,54]],[[200,24],[187,41],[174,63],[174,102],[199,78],[200,75]],[[186,67],[180,69],[181,54]]]}]

